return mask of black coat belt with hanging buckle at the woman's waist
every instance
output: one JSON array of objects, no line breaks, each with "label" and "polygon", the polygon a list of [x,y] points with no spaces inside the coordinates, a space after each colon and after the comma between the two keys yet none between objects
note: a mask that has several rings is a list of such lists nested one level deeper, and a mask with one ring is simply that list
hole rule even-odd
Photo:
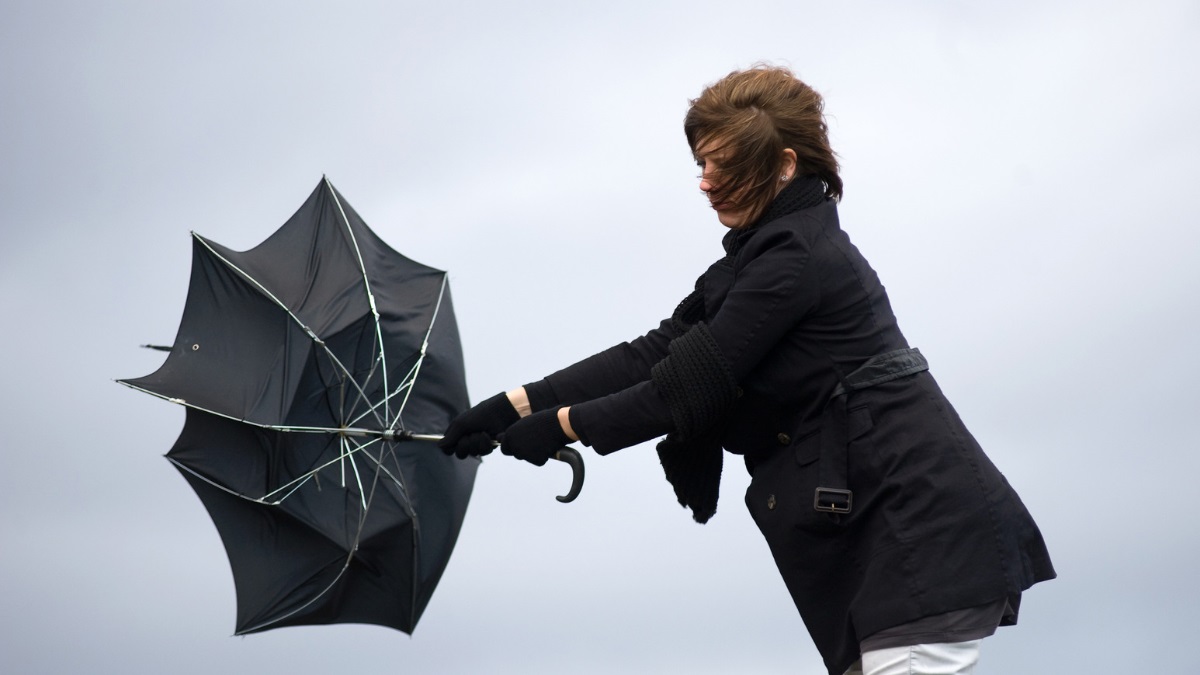
[{"label": "black coat belt with hanging buckle at the woman's waist", "polygon": [[929,370],[929,362],[911,347],[866,359],[842,378],[829,396],[821,424],[821,459],[812,508],[823,513],[847,514],[854,494],[846,483],[850,462],[850,394]]}]

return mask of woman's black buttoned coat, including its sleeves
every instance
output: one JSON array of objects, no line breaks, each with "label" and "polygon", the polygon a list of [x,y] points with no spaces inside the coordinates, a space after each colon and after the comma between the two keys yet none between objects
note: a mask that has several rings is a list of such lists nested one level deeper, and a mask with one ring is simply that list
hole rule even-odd
[{"label": "woman's black buttoned coat, including its sleeves", "polygon": [[[880,629],[1000,598],[1015,609],[1054,578],[1033,519],[928,371],[844,399],[853,509],[814,510],[830,395],[908,345],[833,202],[732,231],[725,246],[703,276],[708,327],[742,389],[722,444],[748,458],[746,504],[829,673]],[[649,372],[678,336],[666,321],[529,386],[530,399],[572,405],[600,454],[665,435],[671,411]]]}]

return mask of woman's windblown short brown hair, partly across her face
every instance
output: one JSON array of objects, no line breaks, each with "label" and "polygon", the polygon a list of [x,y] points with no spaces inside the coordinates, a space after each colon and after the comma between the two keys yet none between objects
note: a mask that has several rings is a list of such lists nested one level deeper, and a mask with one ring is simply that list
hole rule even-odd
[{"label": "woman's windblown short brown hair, partly across her face", "polygon": [[757,219],[778,193],[786,148],[796,151],[798,177],[816,175],[824,181],[828,197],[841,198],[824,102],[792,71],[769,65],[733,71],[690,103],[683,130],[692,154],[704,143],[727,153],[709,192],[714,202],[744,205],[751,221]]}]

